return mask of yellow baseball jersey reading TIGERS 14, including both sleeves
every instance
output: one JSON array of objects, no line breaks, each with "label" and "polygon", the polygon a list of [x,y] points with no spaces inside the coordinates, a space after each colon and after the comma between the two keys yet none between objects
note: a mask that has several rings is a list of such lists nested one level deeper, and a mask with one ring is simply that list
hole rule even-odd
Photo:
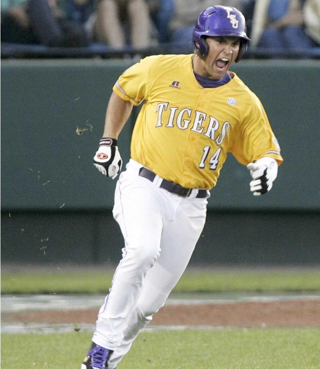
[{"label": "yellow baseball jersey reading TIGERS 14, including both sleeves", "polygon": [[113,91],[139,105],[131,158],[187,188],[211,189],[231,152],[244,165],[262,156],[280,164],[278,141],[258,97],[233,72],[223,86],[203,88],[190,55],[142,59]]}]

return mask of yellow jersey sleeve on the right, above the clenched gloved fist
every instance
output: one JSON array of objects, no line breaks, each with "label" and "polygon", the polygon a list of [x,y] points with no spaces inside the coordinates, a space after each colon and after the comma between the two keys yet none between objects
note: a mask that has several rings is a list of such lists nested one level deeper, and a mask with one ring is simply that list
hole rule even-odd
[{"label": "yellow jersey sleeve on the right, above the clenched gloved fist", "polygon": [[239,125],[232,146],[232,154],[244,165],[264,156],[275,159],[279,165],[283,161],[280,146],[270,127],[264,107],[254,94],[251,108]]}]

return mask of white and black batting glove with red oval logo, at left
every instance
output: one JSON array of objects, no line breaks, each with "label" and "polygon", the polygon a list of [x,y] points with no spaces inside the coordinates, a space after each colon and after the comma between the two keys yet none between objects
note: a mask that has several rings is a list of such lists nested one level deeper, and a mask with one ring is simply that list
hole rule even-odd
[{"label": "white and black batting glove with red oval logo, at left", "polygon": [[107,137],[100,139],[99,149],[93,158],[93,165],[105,176],[116,178],[122,167],[116,139]]}]

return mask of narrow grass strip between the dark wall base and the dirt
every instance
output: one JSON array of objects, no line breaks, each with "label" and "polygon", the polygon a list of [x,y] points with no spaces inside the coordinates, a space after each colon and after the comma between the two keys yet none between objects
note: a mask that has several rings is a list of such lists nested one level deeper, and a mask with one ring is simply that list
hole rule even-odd
[{"label": "narrow grass strip between the dark wall base and the dirt", "polygon": [[[102,293],[110,272],[35,272],[1,275],[1,293]],[[202,272],[186,271],[174,292],[319,291],[320,271]]]}]

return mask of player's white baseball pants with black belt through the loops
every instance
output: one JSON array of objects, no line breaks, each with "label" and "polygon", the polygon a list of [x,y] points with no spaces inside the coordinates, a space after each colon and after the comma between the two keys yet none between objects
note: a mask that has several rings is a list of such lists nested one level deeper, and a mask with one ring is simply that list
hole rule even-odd
[{"label": "player's white baseball pants with black belt through the loops", "polygon": [[[125,246],[109,294],[101,306],[92,341],[114,350],[116,368],[142,328],[152,320],[185,270],[206,220],[206,198],[198,190],[181,197],[139,176],[130,159],[120,174],[113,216]],[[209,192],[208,192],[208,196]]]}]

